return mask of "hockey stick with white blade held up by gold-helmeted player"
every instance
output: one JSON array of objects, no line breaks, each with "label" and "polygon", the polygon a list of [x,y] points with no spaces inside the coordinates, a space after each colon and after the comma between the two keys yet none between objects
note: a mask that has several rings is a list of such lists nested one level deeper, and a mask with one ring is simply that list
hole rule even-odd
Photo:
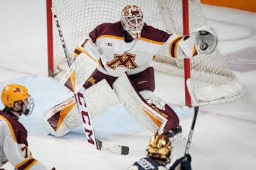
[{"label": "hockey stick with white blade held up by gold-helmeted player", "polygon": [[186,85],[188,87],[188,92],[189,92],[189,94],[191,96],[191,101],[193,103],[194,115],[193,115],[193,121],[192,121],[192,124],[191,124],[191,130],[189,131],[189,135],[188,135],[188,141],[186,143],[185,155],[188,154],[188,150],[191,147],[191,140],[192,140],[192,137],[193,137],[193,130],[195,128],[196,118],[197,118],[198,110],[199,110],[198,101],[196,100],[195,91],[193,89],[192,79],[187,79]]}]

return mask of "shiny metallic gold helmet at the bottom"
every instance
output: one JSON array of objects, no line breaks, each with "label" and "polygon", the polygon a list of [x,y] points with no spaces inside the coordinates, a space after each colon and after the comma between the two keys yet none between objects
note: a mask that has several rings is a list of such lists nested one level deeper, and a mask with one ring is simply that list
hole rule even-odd
[{"label": "shiny metallic gold helmet at the bottom", "polygon": [[148,157],[169,159],[171,155],[171,141],[165,135],[154,135],[149,140]]}]

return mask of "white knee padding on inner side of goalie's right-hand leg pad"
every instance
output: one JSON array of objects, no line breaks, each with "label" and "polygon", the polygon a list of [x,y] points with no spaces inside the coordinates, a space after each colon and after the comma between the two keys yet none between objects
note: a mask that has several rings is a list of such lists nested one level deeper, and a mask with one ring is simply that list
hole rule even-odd
[{"label": "white knee padding on inner side of goalie's right-hand leg pad", "polygon": [[166,102],[164,102],[161,98],[154,95],[152,91],[139,91],[139,94],[146,100],[147,103],[152,103],[156,108],[161,109],[162,111],[165,110]]}]

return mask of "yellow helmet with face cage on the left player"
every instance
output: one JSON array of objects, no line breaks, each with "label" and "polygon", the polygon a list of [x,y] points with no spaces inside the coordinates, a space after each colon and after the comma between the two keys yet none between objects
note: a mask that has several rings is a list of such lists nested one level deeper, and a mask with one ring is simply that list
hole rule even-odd
[{"label": "yellow helmet with face cage on the left player", "polygon": [[[19,84],[9,84],[4,87],[1,92],[1,101],[10,111],[14,111],[15,103],[18,102],[21,109],[16,112],[20,115],[22,113],[26,116],[31,115],[34,108],[33,98],[28,94],[28,89]],[[23,106],[26,106],[26,108],[23,108]]]}]

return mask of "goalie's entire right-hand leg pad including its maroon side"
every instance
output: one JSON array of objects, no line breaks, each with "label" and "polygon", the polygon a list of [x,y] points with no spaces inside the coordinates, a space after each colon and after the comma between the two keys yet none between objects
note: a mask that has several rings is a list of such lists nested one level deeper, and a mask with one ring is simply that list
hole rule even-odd
[{"label": "goalie's entire right-hand leg pad including its maroon side", "polygon": [[154,133],[176,128],[179,123],[176,113],[160,98],[152,97],[152,91],[139,94],[131,83],[127,75],[123,74],[113,84],[119,101],[124,104],[128,113]]}]

